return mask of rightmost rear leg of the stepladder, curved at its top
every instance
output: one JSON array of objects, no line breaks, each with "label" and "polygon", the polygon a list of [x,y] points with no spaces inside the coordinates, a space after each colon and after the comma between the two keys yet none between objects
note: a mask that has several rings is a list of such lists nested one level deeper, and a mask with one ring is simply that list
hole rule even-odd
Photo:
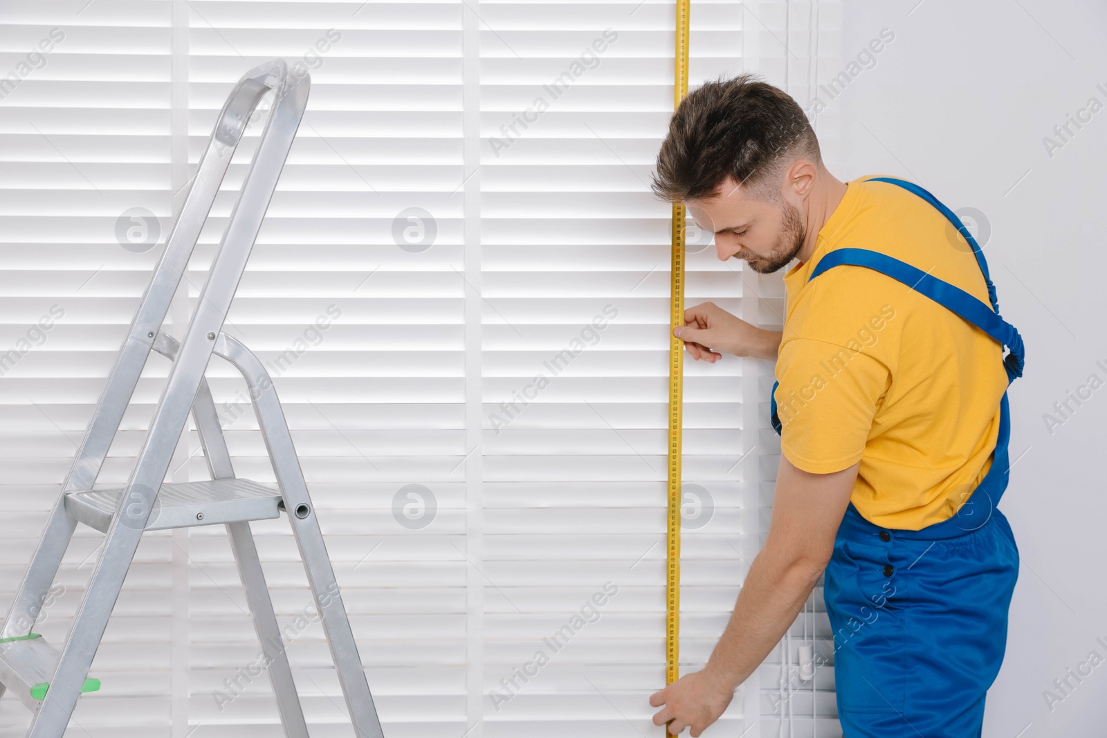
[{"label": "rightmost rear leg of the stepladder, curved at its top", "polygon": [[365,667],[361,663],[338,580],[334,578],[327,544],[272,378],[261,361],[234,336],[220,333],[215,353],[234,364],[249,386],[261,437],[284,498],[284,509],[321,615],[327,644],[356,738],[384,738],[369,680],[365,678]]}]

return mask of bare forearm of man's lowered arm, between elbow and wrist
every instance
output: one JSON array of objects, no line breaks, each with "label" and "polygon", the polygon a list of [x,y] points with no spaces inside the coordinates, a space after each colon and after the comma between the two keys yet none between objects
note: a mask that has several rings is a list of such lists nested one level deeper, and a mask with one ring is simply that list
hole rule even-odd
[{"label": "bare forearm of man's lowered arm, between elbow and wrist", "polygon": [[732,692],[765,659],[799,614],[818,582],[821,568],[783,565],[763,550],[749,568],[731,621],[711,654],[706,669]]}]

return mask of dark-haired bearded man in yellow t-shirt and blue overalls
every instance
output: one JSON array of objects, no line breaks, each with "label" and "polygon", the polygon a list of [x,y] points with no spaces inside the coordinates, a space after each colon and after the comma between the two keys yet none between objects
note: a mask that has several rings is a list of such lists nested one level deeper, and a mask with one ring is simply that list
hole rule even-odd
[{"label": "dark-haired bearded man in yellow t-shirt and blue overalls", "polygon": [[1018,571],[995,502],[1023,346],[979,247],[917,185],[836,179],[796,102],[749,75],[681,103],[654,191],[686,204],[720,259],[798,260],[783,332],[711,303],[674,330],[697,361],[776,361],[782,456],[730,623],[702,672],[651,696],[654,724],[701,735],[825,573],[846,738],[980,736]]}]

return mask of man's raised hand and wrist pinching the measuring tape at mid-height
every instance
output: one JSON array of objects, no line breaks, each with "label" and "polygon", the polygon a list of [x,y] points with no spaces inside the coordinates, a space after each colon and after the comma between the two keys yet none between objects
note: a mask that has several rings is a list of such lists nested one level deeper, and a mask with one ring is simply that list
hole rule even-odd
[{"label": "man's raised hand and wrist pinching the measuring tape at mid-height", "polygon": [[713,302],[684,311],[684,325],[673,329],[692,358],[714,364],[724,353],[776,360],[779,331],[765,331],[726,312]]}]

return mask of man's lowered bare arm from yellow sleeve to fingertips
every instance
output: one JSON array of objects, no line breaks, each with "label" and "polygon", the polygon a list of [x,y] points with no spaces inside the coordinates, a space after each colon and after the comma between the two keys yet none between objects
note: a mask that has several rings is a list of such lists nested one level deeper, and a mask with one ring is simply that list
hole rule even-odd
[{"label": "man's lowered bare arm from yellow sleeve to fingertips", "polygon": [[830,560],[857,467],[810,474],[780,456],[768,537],[749,565],[731,621],[702,672],[650,696],[653,707],[664,705],[654,725],[672,720],[672,735],[691,726],[696,738],[780,641]]}]

